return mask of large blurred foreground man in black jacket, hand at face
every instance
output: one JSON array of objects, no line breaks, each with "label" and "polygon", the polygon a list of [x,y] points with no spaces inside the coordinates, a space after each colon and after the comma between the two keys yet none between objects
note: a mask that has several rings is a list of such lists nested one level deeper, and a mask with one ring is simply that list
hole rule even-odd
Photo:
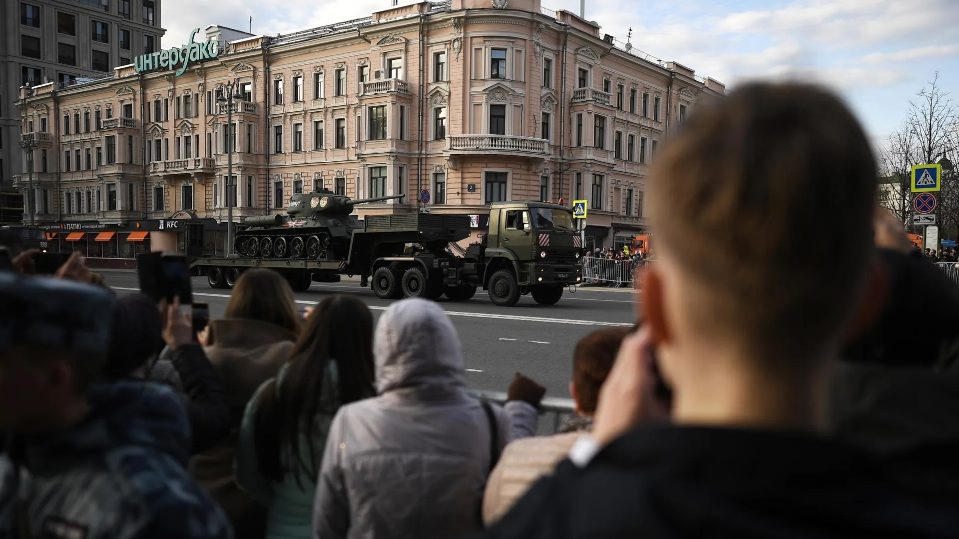
[{"label": "large blurred foreground man in black jacket, hand at face", "polygon": [[879,290],[876,164],[849,108],[808,84],[741,85],[690,115],[650,177],[643,328],[593,433],[487,536],[954,536],[954,505],[827,432],[833,358]]}]

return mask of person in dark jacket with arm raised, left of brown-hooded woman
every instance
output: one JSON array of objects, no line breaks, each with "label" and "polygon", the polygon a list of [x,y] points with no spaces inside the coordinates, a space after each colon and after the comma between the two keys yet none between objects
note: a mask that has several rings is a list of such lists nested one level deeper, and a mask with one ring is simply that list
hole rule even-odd
[{"label": "person in dark jacket with arm raised, left of brown-hooded woman", "polygon": [[131,377],[142,380],[148,363],[166,342],[171,362],[181,373],[193,433],[191,454],[197,454],[220,443],[226,435],[230,409],[220,376],[206,359],[203,348],[194,342],[190,320],[178,314],[178,307],[178,302],[169,306],[161,302],[157,306],[143,293],[121,297],[113,316],[104,376],[111,381]]}]

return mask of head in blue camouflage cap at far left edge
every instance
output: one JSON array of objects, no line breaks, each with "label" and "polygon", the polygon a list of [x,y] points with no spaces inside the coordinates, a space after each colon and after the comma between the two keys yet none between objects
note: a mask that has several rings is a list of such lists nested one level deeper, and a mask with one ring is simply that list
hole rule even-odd
[{"label": "head in blue camouflage cap at far left edge", "polygon": [[76,414],[105,363],[115,302],[96,287],[0,271],[0,434]]}]

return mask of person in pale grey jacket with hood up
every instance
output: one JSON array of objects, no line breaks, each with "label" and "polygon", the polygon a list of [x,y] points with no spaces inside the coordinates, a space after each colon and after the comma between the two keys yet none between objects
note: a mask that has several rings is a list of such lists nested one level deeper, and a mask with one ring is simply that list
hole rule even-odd
[{"label": "person in pale grey jacket with hood up", "polygon": [[380,316],[373,354],[379,396],[345,405],[333,419],[313,536],[429,539],[479,530],[493,461],[509,441],[535,434],[537,410],[510,401],[487,413],[467,393],[456,329],[432,301],[393,303]]}]

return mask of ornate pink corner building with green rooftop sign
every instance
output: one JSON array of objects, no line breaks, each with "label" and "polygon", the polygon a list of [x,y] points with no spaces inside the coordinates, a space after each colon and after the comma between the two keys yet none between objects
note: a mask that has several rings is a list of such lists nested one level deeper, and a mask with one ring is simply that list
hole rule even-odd
[{"label": "ornate pink corner building with green rooftop sign", "polygon": [[222,223],[229,192],[242,223],[325,188],[407,196],[361,216],[425,206],[474,216],[481,233],[493,201],[587,199],[588,246],[612,246],[644,229],[648,163],[669,129],[725,88],[545,13],[538,0],[448,0],[290,35],[208,27],[215,59],[186,46],[102,80],[24,89],[34,131],[22,136],[41,141],[44,165],[27,214],[51,228]]}]

